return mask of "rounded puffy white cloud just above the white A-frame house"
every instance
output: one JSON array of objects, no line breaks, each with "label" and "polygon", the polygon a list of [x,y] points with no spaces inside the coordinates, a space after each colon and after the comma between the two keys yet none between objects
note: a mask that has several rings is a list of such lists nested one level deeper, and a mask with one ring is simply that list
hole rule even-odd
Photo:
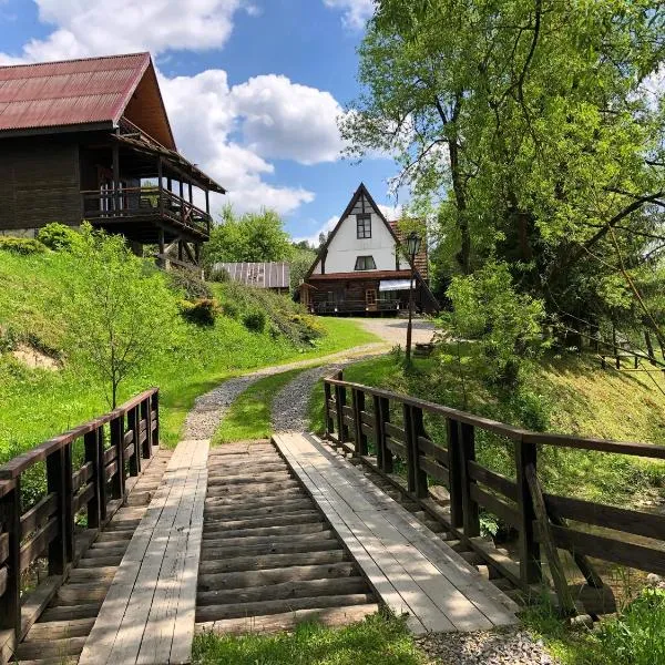
[{"label": "rounded puffy white cloud just above the white A-frame house", "polygon": [[301,164],[339,157],[337,117],[344,110],[329,92],[268,74],[234,86],[232,98],[245,141],[257,154]]}]

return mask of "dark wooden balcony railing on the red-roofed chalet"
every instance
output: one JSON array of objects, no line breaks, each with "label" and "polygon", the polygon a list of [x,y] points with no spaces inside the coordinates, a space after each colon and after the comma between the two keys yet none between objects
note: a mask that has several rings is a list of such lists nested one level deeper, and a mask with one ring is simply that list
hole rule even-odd
[{"label": "dark wooden balcony railing on the red-roofed chalet", "polygon": [[154,217],[206,236],[211,233],[209,214],[163,187],[120,187],[81,194],[83,216],[91,222]]}]

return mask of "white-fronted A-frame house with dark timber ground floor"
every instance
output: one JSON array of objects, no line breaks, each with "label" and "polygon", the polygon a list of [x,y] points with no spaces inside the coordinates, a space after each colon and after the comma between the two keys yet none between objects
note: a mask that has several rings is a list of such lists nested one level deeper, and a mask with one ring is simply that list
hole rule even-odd
[{"label": "white-fronted A-frame house with dark timber ground floor", "polygon": [[[411,265],[397,222],[360,183],[300,285],[314,314],[397,314],[409,307]],[[428,286],[427,243],[413,262],[417,311],[439,309]]]}]

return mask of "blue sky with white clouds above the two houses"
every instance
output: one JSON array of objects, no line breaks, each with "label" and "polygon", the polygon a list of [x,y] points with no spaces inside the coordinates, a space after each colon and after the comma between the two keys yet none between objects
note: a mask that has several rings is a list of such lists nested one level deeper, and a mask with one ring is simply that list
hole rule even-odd
[{"label": "blue sky with white clouds above the two houses", "polygon": [[339,157],[336,117],[359,92],[356,47],[371,0],[183,4],[0,0],[0,62],[151,51],[181,151],[238,209],[277,208],[295,237],[329,227],[360,181],[395,204],[392,160]]}]

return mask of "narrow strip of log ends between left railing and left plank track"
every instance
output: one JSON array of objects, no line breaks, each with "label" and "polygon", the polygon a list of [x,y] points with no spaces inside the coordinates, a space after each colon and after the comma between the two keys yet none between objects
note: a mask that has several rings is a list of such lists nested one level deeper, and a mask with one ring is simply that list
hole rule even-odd
[{"label": "narrow strip of log ends between left railing and left plank track", "polygon": [[18,663],[70,665],[79,662],[106,592],[171,454],[172,451],[160,449],[151,459],[130,492],[126,505],[117,510],[83,553],[68,582],[19,645]]}]

